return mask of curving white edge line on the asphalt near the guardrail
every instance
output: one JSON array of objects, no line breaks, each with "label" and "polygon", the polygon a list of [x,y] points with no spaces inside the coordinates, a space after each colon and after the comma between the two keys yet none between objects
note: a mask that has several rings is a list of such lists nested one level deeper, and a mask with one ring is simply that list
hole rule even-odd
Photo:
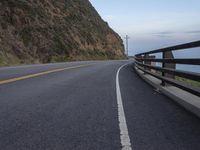
[{"label": "curving white edge line on the asphalt near the guardrail", "polygon": [[122,103],[120,86],[119,86],[119,72],[126,65],[127,64],[121,66],[117,71],[116,94],[117,94],[118,120],[119,120],[119,129],[120,129],[120,139],[121,139],[122,150],[132,150],[130,137],[129,137],[129,134],[128,134],[126,117],[125,117],[125,113],[124,113],[124,107],[123,107],[123,103]]}]

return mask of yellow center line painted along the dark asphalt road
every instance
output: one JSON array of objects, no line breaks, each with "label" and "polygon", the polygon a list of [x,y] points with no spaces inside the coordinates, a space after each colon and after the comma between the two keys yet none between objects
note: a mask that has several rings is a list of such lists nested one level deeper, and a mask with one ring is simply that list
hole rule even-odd
[{"label": "yellow center line painted along the dark asphalt road", "polygon": [[70,69],[76,69],[76,68],[81,68],[81,67],[87,67],[87,66],[91,66],[91,65],[93,65],[93,64],[79,65],[79,66],[59,68],[59,69],[53,69],[53,70],[50,70],[50,71],[44,71],[44,72],[30,74],[30,75],[25,75],[25,76],[21,76],[21,77],[16,77],[16,78],[11,78],[11,79],[1,80],[0,81],[0,85],[1,84],[7,84],[7,83],[16,82],[16,81],[20,81],[20,80],[25,80],[25,79],[29,79],[29,78],[33,78],[33,77],[38,77],[38,76],[42,76],[42,75],[46,75],[46,74],[50,74],[50,73],[60,72],[60,71],[64,71],[64,70],[70,70]]}]

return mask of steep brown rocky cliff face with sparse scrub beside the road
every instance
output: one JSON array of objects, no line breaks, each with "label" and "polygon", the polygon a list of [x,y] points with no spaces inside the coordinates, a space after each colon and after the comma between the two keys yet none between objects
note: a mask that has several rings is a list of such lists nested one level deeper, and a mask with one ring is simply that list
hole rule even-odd
[{"label": "steep brown rocky cliff face with sparse scrub beside the road", "polygon": [[0,64],[124,57],[88,0],[1,0]]}]

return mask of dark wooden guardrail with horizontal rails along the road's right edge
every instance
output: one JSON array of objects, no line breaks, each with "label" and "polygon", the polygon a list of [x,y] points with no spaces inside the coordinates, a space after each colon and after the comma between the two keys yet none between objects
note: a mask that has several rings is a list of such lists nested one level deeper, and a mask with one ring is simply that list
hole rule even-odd
[{"label": "dark wooden guardrail with horizontal rails along the road's right edge", "polygon": [[[178,76],[200,82],[200,73],[176,69],[176,64],[200,65],[200,58],[176,59],[173,56],[173,51],[191,50],[191,48],[197,47],[200,47],[200,41],[140,53],[135,55],[135,66],[144,73],[160,79],[162,81],[162,86],[166,86],[166,83],[171,84],[194,95],[200,96],[199,88],[176,80],[176,76]],[[162,53],[162,58],[157,59],[155,57],[156,53]],[[156,63],[162,63],[162,67],[157,66]]]}]

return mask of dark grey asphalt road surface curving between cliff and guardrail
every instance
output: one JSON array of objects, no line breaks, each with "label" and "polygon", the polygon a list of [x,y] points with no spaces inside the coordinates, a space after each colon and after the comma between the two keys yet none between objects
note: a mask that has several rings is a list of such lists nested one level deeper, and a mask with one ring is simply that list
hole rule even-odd
[{"label": "dark grey asphalt road surface curving between cliff and guardrail", "polygon": [[[0,68],[0,150],[121,150],[116,74],[126,63]],[[119,86],[133,150],[200,149],[200,119],[156,93],[132,64]]]}]

